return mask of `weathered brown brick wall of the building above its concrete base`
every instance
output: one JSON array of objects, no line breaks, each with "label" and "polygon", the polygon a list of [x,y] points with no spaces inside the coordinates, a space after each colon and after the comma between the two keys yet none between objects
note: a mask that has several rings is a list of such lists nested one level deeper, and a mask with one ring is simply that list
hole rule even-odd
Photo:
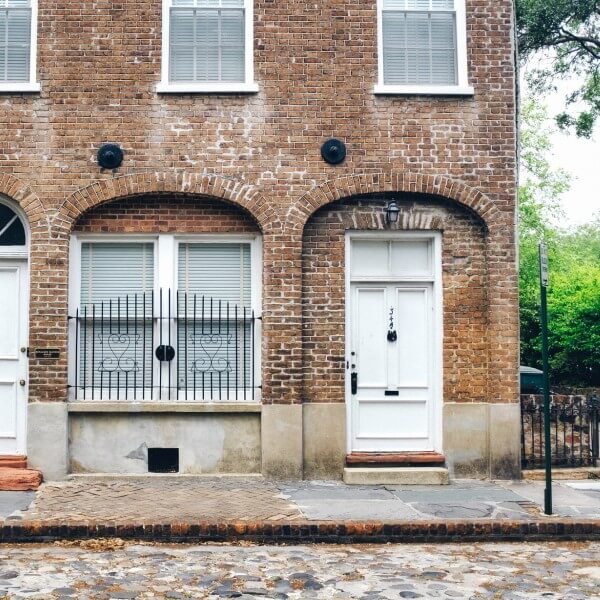
[{"label": "weathered brown brick wall of the building above its concrete base", "polygon": [[[468,251],[478,253],[473,263],[485,264],[486,297],[483,314],[463,313],[464,328],[456,330],[462,345],[447,341],[445,364],[457,361],[457,379],[446,381],[446,391],[465,401],[516,401],[512,2],[470,0],[468,12],[474,97],[374,96],[375,0],[256,0],[258,94],[160,95],[160,0],[40,2],[42,91],[3,94],[0,112],[0,193],[23,206],[31,226],[30,345],[63,351],[56,363],[32,358],[31,400],[66,395],[68,239],[80,217],[78,227],[92,226],[85,213],[94,206],[153,194],[177,204],[187,194],[199,205],[212,197],[248,211],[264,241],[263,397],[300,402],[305,222],[344,197],[406,191],[449,198],[485,223],[476,227],[452,209],[456,227],[460,221],[471,236]],[[330,136],[348,146],[337,167],[319,153]],[[118,172],[95,162],[105,141],[125,150]],[[438,210],[425,197],[419,203]],[[129,214],[126,202],[119,206]],[[327,219],[323,210],[309,228]],[[222,216],[215,230],[237,231],[232,214]],[[456,249],[449,243],[448,256]],[[459,279],[447,269],[449,284]],[[460,285],[473,290],[468,305],[477,304],[481,282]],[[445,317],[451,328],[459,327],[456,312]],[[336,368],[319,377],[333,377],[333,385]],[[339,390],[331,399],[340,400]]]}]

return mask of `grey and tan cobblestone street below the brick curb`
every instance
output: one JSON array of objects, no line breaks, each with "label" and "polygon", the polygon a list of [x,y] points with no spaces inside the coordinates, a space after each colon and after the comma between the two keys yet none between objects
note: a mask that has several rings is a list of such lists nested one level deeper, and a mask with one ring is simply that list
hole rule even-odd
[{"label": "grey and tan cobblestone street below the brick curb", "polygon": [[600,598],[599,543],[0,546],[0,598]]}]

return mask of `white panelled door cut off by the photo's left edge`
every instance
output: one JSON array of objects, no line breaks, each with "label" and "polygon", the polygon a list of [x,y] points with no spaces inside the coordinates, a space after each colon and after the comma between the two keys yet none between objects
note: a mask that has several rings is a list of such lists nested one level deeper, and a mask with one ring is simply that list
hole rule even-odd
[{"label": "white panelled door cut off by the photo's left edge", "polygon": [[27,261],[0,259],[0,454],[25,454]]}]

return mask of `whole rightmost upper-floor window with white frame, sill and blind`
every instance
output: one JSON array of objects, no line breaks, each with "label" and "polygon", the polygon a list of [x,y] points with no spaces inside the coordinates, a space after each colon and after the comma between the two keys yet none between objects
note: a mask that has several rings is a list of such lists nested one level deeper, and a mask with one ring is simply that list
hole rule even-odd
[{"label": "whole rightmost upper-floor window with white frame, sill and blind", "polygon": [[472,94],[465,0],[378,0],[376,93]]}]

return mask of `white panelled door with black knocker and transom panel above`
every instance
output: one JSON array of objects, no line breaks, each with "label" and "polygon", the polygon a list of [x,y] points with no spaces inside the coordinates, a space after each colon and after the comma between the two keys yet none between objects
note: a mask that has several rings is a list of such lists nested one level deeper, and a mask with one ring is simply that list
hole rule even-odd
[{"label": "white panelled door with black knocker and transom panel above", "polygon": [[435,238],[351,238],[351,452],[441,450],[436,248]]}]

